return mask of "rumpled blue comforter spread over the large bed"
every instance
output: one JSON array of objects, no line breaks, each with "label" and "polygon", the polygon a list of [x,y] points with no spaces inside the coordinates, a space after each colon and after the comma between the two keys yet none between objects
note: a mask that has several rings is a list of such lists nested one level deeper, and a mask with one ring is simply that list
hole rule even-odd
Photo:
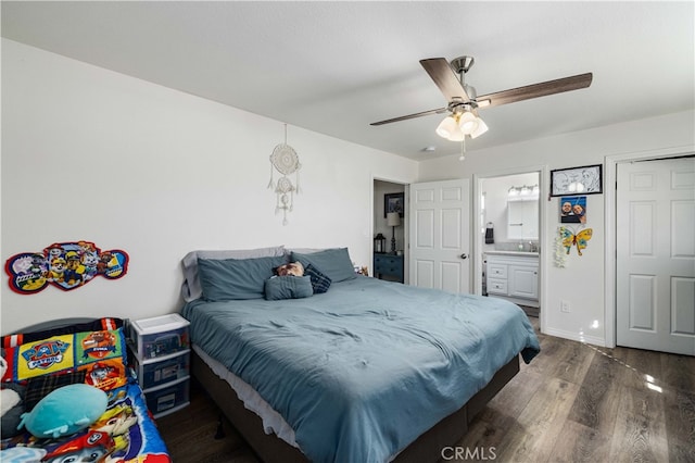
[{"label": "rumpled blue comforter spread over the large bed", "polygon": [[376,278],[306,299],[194,300],[191,341],[292,426],[309,460],[387,462],[539,341],[517,305]]}]

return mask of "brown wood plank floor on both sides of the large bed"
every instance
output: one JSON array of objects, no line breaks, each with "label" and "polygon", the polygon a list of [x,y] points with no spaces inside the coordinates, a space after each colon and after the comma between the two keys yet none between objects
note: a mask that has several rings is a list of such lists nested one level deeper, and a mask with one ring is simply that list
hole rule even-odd
[{"label": "brown wood plank floor on both sides of the large bed", "polygon": [[[538,331],[538,318],[531,317]],[[695,358],[539,334],[542,352],[441,462],[695,462]],[[175,463],[258,460],[198,385],[157,420]]]}]

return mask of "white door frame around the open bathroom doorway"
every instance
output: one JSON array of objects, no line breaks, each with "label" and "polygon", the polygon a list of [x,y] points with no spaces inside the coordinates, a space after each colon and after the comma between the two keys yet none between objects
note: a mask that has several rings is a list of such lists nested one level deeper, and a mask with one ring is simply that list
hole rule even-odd
[{"label": "white door frame around the open bathroom doorway", "polygon": [[471,270],[473,273],[473,291],[471,291],[475,295],[478,296],[482,296],[482,240],[483,240],[483,235],[480,233],[480,230],[483,227],[483,224],[480,221],[480,209],[481,209],[481,204],[480,204],[480,195],[482,192],[482,180],[484,180],[485,178],[492,178],[492,177],[503,177],[505,175],[521,175],[521,174],[529,174],[529,173],[533,173],[533,172],[538,172],[539,174],[539,248],[540,248],[540,253],[539,253],[539,284],[540,284],[540,288],[539,288],[539,304],[541,305],[541,311],[539,312],[539,322],[540,322],[540,328],[541,331],[545,333],[545,314],[544,314],[544,310],[543,308],[547,306],[545,304],[545,300],[546,298],[546,293],[547,293],[547,272],[545,271],[545,261],[546,261],[546,255],[551,255],[549,252],[547,252],[548,249],[551,249],[551,247],[555,246],[554,242],[548,243],[546,242],[546,216],[545,216],[545,208],[543,207],[543,198],[546,198],[548,195],[548,190],[547,190],[547,183],[545,182],[546,178],[548,177],[548,168],[547,165],[531,165],[528,167],[511,167],[511,168],[505,168],[505,170],[501,170],[501,171],[490,171],[490,172],[485,172],[482,174],[473,174],[473,182],[472,182],[472,200],[473,200],[473,207],[472,207],[472,214],[473,214],[473,220],[472,220],[472,224],[473,224],[473,234],[475,234],[475,238],[472,239],[472,253],[471,256],[473,259],[473,268]]}]

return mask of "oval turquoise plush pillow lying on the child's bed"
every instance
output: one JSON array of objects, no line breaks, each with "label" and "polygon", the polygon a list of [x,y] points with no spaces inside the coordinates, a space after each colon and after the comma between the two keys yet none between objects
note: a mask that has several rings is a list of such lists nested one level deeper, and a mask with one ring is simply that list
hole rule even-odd
[{"label": "oval turquoise plush pillow lying on the child's bed", "polygon": [[87,385],[55,389],[22,415],[18,427],[26,427],[38,438],[54,439],[87,428],[106,411],[106,392]]}]

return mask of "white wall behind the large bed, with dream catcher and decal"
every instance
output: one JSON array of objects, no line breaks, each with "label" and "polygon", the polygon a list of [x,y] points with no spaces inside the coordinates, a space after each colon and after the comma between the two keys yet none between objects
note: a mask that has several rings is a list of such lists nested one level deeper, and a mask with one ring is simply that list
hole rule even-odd
[{"label": "white wall behind the large bed, with dream catcher and decal", "polygon": [[283,137],[281,122],[3,39],[2,259],[84,239],[130,264],[30,296],[5,275],[1,331],[178,311],[194,249],[341,246],[371,265],[372,178],[414,182],[417,163],[290,126],[303,191],[282,226],[266,187]]}]

